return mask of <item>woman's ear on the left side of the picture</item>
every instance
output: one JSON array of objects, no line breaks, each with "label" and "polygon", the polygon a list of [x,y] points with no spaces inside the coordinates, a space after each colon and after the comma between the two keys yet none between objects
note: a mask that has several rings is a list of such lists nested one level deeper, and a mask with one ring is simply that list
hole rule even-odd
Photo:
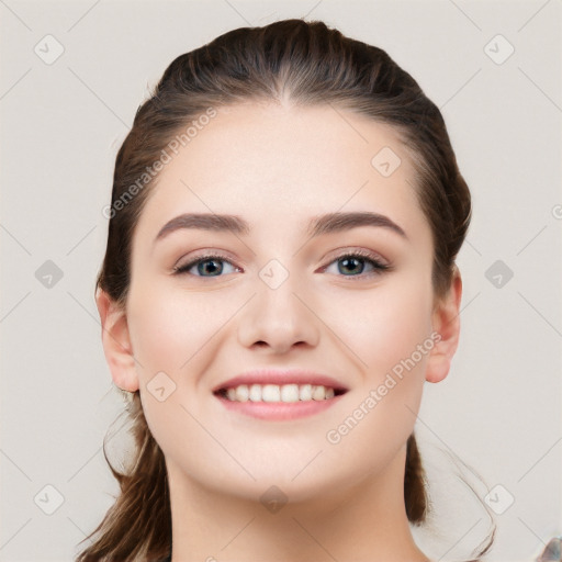
[{"label": "woman's ear on the left side of the picture", "polygon": [[138,390],[138,375],[128,334],[126,311],[99,289],[95,304],[101,319],[101,339],[113,382],[122,390]]}]

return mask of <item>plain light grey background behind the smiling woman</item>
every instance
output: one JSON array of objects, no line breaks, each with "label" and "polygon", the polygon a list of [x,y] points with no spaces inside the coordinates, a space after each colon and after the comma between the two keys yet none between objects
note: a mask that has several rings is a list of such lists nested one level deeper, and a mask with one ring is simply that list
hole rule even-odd
[{"label": "plain light grey background behind the smiling woman", "polygon": [[[459,560],[490,528],[454,477],[456,456],[496,510],[515,498],[494,515],[488,560],[532,560],[562,532],[561,0],[1,0],[2,561],[71,560],[117,493],[101,443],[122,403],[93,290],[114,157],[147,87],[220,33],[304,15],[414,76],[443,113],[474,198],[460,349],[451,374],[426,385],[417,422],[436,503],[420,543]],[[65,49],[50,65],[34,52],[55,53],[47,34]],[[515,48],[503,64],[497,34]],[[46,260],[63,272],[50,288],[35,276]],[[502,286],[486,277],[496,260],[514,273]],[[46,485],[64,496],[52,515]]]}]

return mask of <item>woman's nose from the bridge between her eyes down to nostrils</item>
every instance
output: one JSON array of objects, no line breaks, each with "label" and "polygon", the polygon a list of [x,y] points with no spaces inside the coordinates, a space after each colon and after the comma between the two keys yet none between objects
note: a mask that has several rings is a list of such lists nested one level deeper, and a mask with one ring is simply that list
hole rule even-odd
[{"label": "woman's nose from the bridge between her eyes down to nostrils", "polygon": [[239,324],[241,345],[267,344],[277,351],[297,342],[316,345],[318,326],[302,302],[307,291],[299,273],[270,260],[256,278],[256,292]]}]

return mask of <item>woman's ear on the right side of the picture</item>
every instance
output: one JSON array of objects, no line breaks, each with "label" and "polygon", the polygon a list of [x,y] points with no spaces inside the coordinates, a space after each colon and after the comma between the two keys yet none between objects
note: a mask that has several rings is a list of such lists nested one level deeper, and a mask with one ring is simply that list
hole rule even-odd
[{"label": "woman's ear on the right side of the picture", "polygon": [[434,349],[429,353],[426,369],[426,381],[440,382],[451,368],[452,357],[459,345],[460,305],[462,296],[462,279],[457,266],[448,293],[437,301],[432,314],[434,331],[439,334]]}]

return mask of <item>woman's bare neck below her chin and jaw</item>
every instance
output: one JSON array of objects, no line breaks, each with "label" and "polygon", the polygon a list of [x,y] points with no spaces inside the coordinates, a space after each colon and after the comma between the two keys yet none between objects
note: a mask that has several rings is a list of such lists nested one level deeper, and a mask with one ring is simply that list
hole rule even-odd
[{"label": "woman's bare neck below her chin and jaw", "polygon": [[[167,460],[171,562],[429,562],[409,530],[404,461],[401,450],[383,474],[268,509],[259,501],[203,488]],[[263,484],[263,492],[269,487]]]}]

